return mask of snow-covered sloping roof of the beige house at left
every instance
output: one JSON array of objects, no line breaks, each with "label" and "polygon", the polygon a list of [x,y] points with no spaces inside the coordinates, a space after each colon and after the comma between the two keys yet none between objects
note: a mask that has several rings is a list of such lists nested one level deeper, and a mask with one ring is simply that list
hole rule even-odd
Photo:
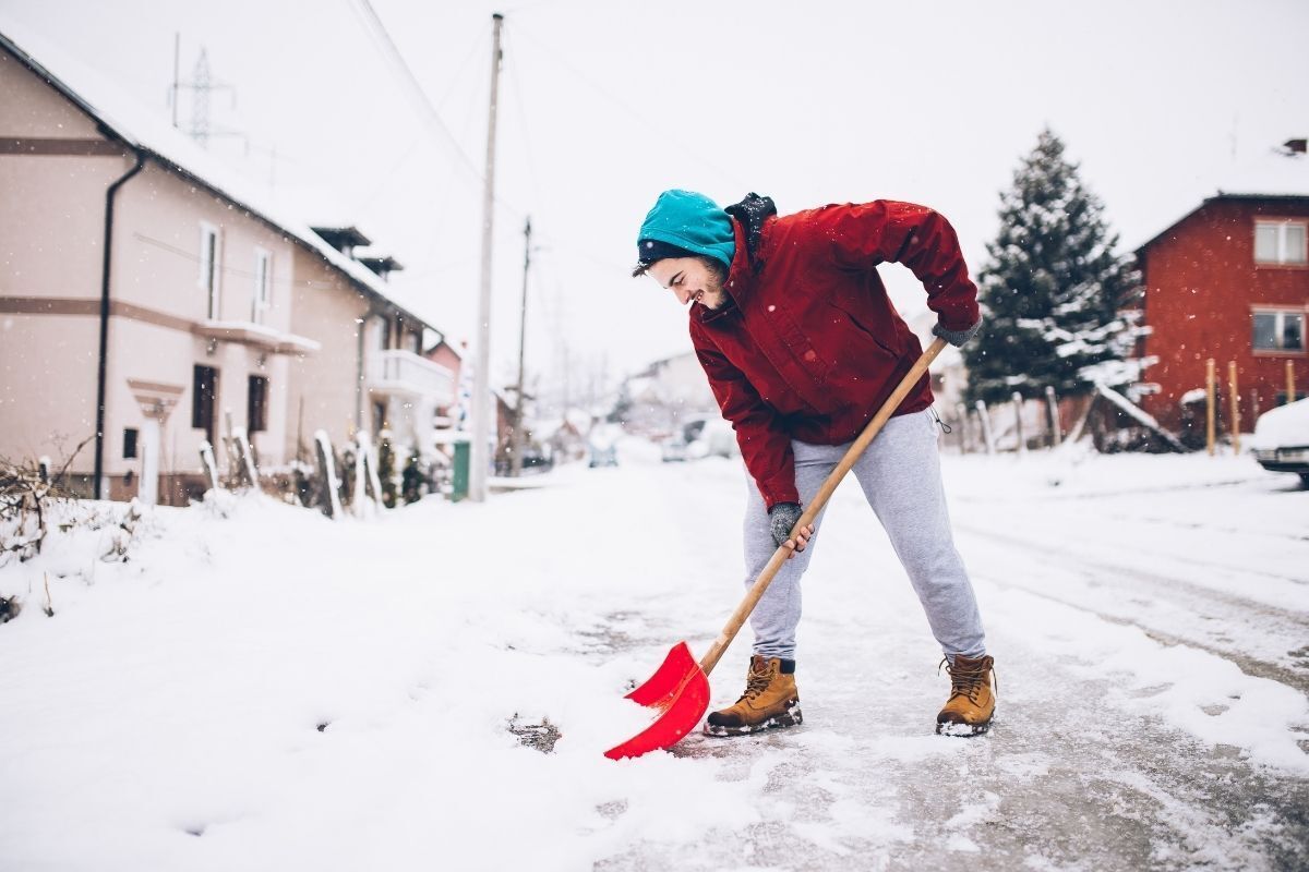
[{"label": "snow-covered sloping roof of the beige house at left", "polygon": [[260,191],[258,186],[223,165],[188,136],[119,92],[103,75],[65,55],[41,37],[25,33],[17,22],[4,24],[4,30],[0,31],[0,48],[9,51],[20,63],[94,119],[106,136],[153,157],[165,169],[241,207],[253,217],[321,255],[323,260],[346,273],[365,295],[399,311],[407,320],[441,332],[390,299],[382,278],[364,264],[334,248],[308,224],[281,214],[279,207],[271,201],[270,193]]}]

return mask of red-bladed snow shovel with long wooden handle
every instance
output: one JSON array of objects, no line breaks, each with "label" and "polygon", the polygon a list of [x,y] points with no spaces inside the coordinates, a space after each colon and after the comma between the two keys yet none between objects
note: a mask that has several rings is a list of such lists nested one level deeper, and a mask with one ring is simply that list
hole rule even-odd
[{"label": "red-bladed snow shovel with long wooden handle", "polygon": [[[918,379],[927,371],[928,365],[936,360],[936,356],[944,348],[944,339],[937,339],[927,346],[927,350],[918,358],[914,367],[905,374],[901,383],[886,397],[886,401],[882,403],[882,408],[878,409],[873,420],[864,428],[864,431],[850,446],[846,456],[840,459],[836,468],[831,471],[831,475],[818,488],[818,493],[805,506],[800,520],[792,528],[792,535],[796,529],[814,522],[822,507],[827,505],[827,499],[831,498],[833,492],[836,490],[836,485],[840,484],[840,480],[846,477],[846,473],[859,460],[859,455],[864,452],[864,448],[868,447],[882,429],[882,425],[891,417],[891,412],[895,411],[901,400],[905,399],[905,395],[918,383]],[[640,757],[652,750],[672,748],[683,736],[695,729],[696,724],[700,723],[700,718],[709,709],[709,673],[719,664],[719,659],[728,650],[728,646],[732,645],[732,639],[736,638],[737,631],[741,630],[746,618],[750,617],[750,612],[754,611],[763,592],[768,590],[772,577],[787,562],[789,554],[791,550],[788,548],[778,546],[778,550],[772,553],[768,563],[763,567],[763,571],[759,573],[759,578],[754,580],[745,599],[741,600],[741,605],[728,618],[723,633],[719,634],[719,638],[713,639],[708,654],[699,663],[691,655],[690,646],[686,642],[678,642],[664,659],[664,664],[651,676],[649,681],[627,694],[627,699],[639,706],[653,709],[660,714],[649,727],[620,745],[606,750],[606,757],[610,760],[622,760],[623,757]]]}]

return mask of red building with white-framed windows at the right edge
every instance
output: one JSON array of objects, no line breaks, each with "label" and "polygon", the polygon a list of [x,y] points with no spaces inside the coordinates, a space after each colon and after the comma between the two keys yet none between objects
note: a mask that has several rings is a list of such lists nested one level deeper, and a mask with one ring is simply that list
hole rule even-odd
[{"label": "red building with white-framed windows at the right edge", "polygon": [[[1145,285],[1138,353],[1141,405],[1170,430],[1204,426],[1204,404],[1183,404],[1217,367],[1220,430],[1228,431],[1228,365],[1236,362],[1241,430],[1258,412],[1309,388],[1309,196],[1219,193],[1136,251]],[[1190,409],[1186,408],[1190,405]],[[1198,416],[1198,420],[1196,420]]]}]

